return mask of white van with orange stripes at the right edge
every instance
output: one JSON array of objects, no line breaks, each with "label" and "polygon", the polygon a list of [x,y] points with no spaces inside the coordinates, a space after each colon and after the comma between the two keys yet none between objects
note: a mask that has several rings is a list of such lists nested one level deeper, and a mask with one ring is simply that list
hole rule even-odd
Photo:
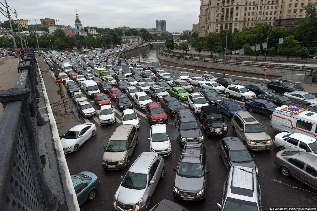
[{"label": "white van with orange stripes at the right edge", "polygon": [[282,105],[274,109],[271,127],[288,133],[317,137],[317,113],[303,108]]}]

